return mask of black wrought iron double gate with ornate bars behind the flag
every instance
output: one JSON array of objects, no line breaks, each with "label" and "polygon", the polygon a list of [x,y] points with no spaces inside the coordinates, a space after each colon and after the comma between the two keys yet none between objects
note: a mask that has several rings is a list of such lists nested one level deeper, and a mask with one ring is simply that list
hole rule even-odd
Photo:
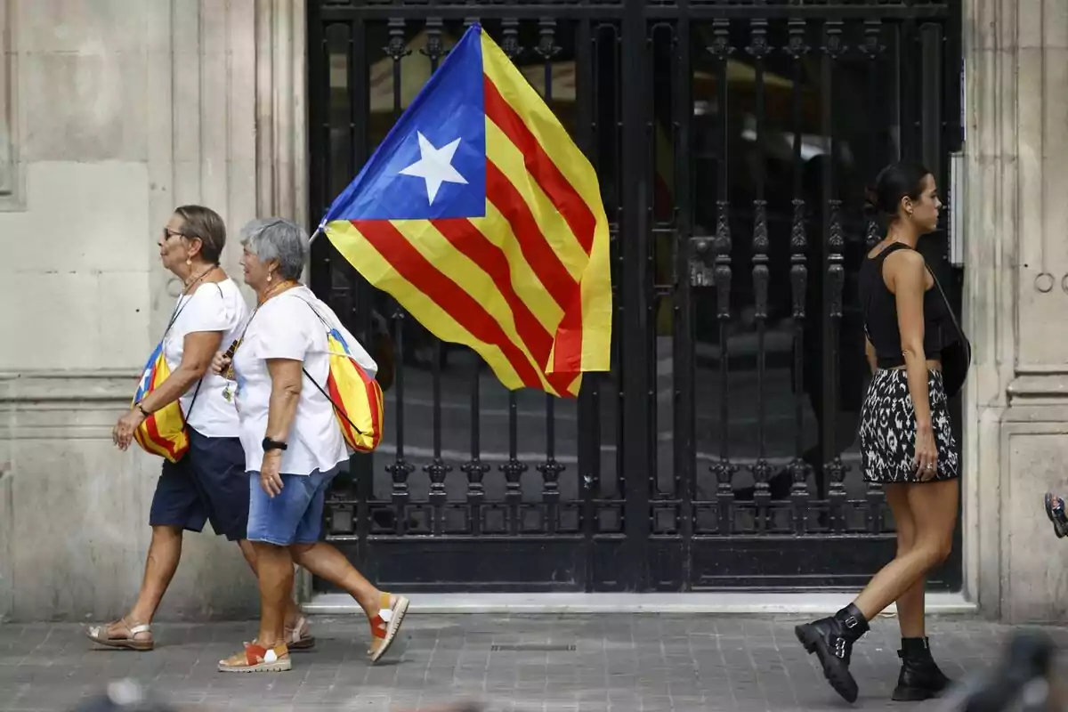
[{"label": "black wrought iron double gate with ornate bars behind the flag", "polygon": [[[315,246],[316,291],[396,354],[384,444],[327,511],[359,568],[404,590],[641,591],[854,587],[889,560],[853,442],[862,186],[907,156],[947,188],[959,0],[309,4],[314,215],[481,21],[613,223],[613,370],[577,401],[506,392]],[[959,556],[936,579],[959,586]]]}]

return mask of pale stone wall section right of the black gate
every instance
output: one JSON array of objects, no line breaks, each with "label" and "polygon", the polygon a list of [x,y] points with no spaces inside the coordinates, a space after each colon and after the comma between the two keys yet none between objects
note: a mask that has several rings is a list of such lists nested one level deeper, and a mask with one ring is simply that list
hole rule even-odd
[{"label": "pale stone wall section right of the black gate", "polygon": [[965,0],[968,592],[1011,622],[1068,619],[1068,3]]}]

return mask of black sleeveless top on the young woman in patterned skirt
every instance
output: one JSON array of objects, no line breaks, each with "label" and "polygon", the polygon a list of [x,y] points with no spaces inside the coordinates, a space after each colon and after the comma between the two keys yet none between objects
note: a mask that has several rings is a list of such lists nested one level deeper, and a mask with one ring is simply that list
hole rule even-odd
[{"label": "black sleeveless top on the young woman in patterned skirt", "polygon": [[[865,255],[858,279],[864,330],[871,346],[875,347],[879,368],[896,368],[905,365],[901,332],[897,327],[897,302],[882,280],[882,264],[886,255],[898,250],[911,250],[911,248],[895,242],[875,257]],[[953,326],[948,306],[939,290],[931,286],[924,292],[924,353],[928,359],[939,358],[942,349],[957,338],[957,330]]]}]

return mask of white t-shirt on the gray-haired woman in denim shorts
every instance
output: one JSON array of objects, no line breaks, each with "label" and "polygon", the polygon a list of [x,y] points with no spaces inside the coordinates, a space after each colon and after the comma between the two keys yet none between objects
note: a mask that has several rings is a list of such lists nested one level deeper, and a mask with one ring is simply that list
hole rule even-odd
[{"label": "white t-shirt on the gray-haired woman in denim shorts", "polygon": [[327,328],[316,313],[341,332],[360,366],[371,375],[378,373],[371,355],[311,289],[301,285],[268,299],[249,317],[251,321],[234,354],[241,446],[249,471],[258,471],[263,464],[271,393],[268,359],[301,361],[307,371],[302,376],[297,414],[285,439],[288,447],[282,453],[281,472],[288,475],[326,472],[348,459],[333,405],[308,379],[311,375],[326,389],[330,373]]}]

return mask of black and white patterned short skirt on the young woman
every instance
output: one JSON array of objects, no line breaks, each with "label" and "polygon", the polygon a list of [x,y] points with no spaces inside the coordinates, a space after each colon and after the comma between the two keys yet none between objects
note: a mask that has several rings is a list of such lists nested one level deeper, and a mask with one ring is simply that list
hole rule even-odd
[{"label": "black and white patterned short skirt on the young woman", "polygon": [[[931,402],[931,428],[938,448],[934,479],[958,477],[960,456],[949,426],[949,406],[942,374],[928,371],[927,391]],[[869,482],[918,482],[913,458],[916,454],[916,417],[904,368],[879,369],[871,377],[860,424],[861,460],[864,479]]]}]

